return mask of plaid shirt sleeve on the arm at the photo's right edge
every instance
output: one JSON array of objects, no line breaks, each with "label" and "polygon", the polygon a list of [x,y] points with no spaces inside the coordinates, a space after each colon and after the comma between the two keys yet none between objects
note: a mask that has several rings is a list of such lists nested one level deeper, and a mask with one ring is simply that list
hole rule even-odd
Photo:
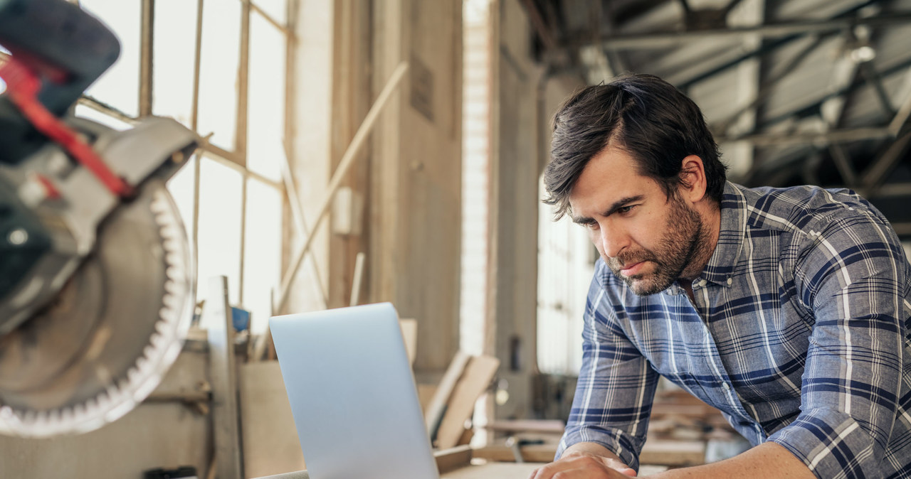
[{"label": "plaid shirt sleeve on the arm at the photo's right edge", "polygon": [[882,218],[835,215],[810,230],[795,264],[812,308],[801,413],[769,441],[818,477],[885,477],[905,351],[906,261]]}]

